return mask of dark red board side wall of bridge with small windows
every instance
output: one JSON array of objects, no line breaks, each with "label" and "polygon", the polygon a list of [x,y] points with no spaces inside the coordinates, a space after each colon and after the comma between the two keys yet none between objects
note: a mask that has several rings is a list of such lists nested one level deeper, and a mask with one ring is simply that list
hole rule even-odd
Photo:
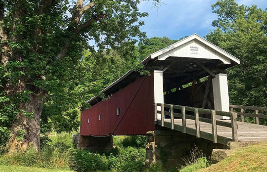
[{"label": "dark red board side wall of bridge with small windows", "polygon": [[82,111],[81,121],[81,135],[136,135],[155,130],[153,73]]}]

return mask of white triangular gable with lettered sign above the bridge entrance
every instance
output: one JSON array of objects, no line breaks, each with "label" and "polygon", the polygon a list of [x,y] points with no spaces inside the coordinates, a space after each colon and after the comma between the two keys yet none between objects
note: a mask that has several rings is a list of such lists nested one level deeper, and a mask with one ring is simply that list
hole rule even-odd
[{"label": "white triangular gable with lettered sign above the bridge entrance", "polygon": [[224,64],[230,64],[230,60],[240,63],[236,57],[196,34],[151,54],[151,58],[158,57],[158,60],[165,60],[171,56],[218,59]]}]

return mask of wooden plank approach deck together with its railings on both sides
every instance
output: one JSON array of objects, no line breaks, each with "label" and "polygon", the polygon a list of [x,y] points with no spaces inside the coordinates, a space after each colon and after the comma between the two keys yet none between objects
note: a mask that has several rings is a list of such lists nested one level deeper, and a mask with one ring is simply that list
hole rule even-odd
[{"label": "wooden plank approach deck together with its railings on both sides", "polygon": [[[230,108],[231,112],[223,112],[155,103],[155,124],[224,145],[229,141],[267,141],[267,126],[259,125],[259,118],[267,119],[267,115],[259,114],[259,111],[267,111],[267,108],[236,105],[231,105]],[[239,108],[240,111],[233,112],[233,108]],[[244,109],[255,110],[255,113],[244,113]],[[210,114],[211,118],[200,117],[200,114]],[[237,121],[237,115],[241,116],[241,122]],[[218,120],[218,116],[230,120]],[[244,123],[244,116],[255,118],[257,124]]]}]

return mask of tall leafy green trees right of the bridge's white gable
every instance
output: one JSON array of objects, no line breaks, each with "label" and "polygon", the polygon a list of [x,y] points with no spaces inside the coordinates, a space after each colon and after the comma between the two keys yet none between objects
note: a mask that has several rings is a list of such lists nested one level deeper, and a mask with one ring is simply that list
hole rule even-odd
[{"label": "tall leafy green trees right of the bridge's white gable", "polygon": [[218,0],[212,5],[218,19],[206,38],[241,60],[228,69],[233,104],[267,106],[267,9]]}]

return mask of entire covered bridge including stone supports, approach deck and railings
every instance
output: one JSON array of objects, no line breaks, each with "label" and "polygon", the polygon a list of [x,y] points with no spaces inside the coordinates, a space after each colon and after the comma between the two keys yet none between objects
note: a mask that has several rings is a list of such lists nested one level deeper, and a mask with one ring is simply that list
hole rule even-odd
[{"label": "entire covered bridge including stone supports, approach deck and railings", "polygon": [[[79,148],[110,150],[112,135],[146,134],[145,164],[161,163],[164,150],[165,165],[172,167],[194,145],[210,156],[214,148],[267,141],[267,126],[259,125],[267,108],[229,105],[225,69],[240,63],[236,57],[194,34],[141,63],[150,75],[129,71],[101,91],[105,100],[87,101]],[[255,124],[245,123],[244,116]]]}]

